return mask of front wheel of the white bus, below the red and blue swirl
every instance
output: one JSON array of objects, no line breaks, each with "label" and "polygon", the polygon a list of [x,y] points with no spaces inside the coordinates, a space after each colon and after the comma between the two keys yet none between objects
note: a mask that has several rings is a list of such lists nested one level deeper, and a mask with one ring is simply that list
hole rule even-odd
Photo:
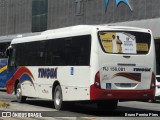
[{"label": "front wheel of the white bus, below the red and blue swirl", "polygon": [[16,87],[16,97],[17,97],[17,102],[23,103],[26,101],[26,96],[22,96],[22,89],[20,83],[17,84]]}]

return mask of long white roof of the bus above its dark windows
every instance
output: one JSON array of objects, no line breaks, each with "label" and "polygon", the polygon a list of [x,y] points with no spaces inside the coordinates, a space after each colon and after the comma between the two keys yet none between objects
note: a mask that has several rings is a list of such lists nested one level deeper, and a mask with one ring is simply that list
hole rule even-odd
[{"label": "long white roof of the bus above its dark windows", "polygon": [[136,27],[126,26],[114,26],[114,25],[76,25],[71,27],[64,27],[52,30],[46,30],[41,34],[35,36],[27,36],[21,38],[15,38],[12,44],[25,43],[31,41],[47,40],[51,38],[70,37],[75,35],[91,34],[92,30],[104,31],[104,30],[124,30],[124,31],[139,31],[150,32],[149,29],[142,29]]}]

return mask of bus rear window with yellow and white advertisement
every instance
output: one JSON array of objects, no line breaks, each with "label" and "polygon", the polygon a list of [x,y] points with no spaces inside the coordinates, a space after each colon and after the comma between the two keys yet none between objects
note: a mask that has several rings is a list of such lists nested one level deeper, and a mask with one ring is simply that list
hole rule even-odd
[{"label": "bus rear window with yellow and white advertisement", "polygon": [[101,31],[98,37],[105,53],[147,54],[150,49],[151,35],[149,33]]}]

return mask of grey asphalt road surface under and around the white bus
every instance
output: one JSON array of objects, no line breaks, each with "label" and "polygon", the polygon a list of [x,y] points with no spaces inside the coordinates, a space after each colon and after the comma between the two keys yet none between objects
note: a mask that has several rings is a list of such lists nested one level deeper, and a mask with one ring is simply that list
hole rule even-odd
[{"label": "grey asphalt road surface under and around the white bus", "polygon": [[[27,99],[26,103],[18,103],[15,95],[6,94],[5,90],[0,91],[0,101],[10,104],[9,107],[0,107],[0,113],[10,112],[12,117],[1,117],[0,120],[129,120],[135,116],[140,118],[157,119],[160,116],[160,102],[148,103],[138,101],[123,101],[118,103],[115,111],[98,111],[95,104],[76,103],[63,111],[54,109],[53,101],[44,99]],[[5,114],[5,113],[4,113]],[[17,116],[19,115],[19,117]],[[37,117],[31,115],[37,115]],[[148,115],[148,116],[146,116]],[[149,115],[155,115],[153,118]],[[158,115],[158,117],[156,116]],[[24,116],[29,116],[24,117]],[[114,117],[115,116],[115,117]],[[139,116],[136,119],[139,119]],[[23,117],[23,118],[22,118]]]}]

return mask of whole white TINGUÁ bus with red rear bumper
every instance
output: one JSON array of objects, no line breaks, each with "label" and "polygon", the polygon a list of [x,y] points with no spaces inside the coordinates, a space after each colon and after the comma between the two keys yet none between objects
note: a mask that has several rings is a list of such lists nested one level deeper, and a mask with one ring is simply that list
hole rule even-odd
[{"label": "whole white TINGU\u00c1 bus with red rear bumper", "polygon": [[14,39],[7,51],[7,92],[18,102],[90,101],[114,110],[118,100],[155,95],[155,46],[150,30],[79,25]]}]

